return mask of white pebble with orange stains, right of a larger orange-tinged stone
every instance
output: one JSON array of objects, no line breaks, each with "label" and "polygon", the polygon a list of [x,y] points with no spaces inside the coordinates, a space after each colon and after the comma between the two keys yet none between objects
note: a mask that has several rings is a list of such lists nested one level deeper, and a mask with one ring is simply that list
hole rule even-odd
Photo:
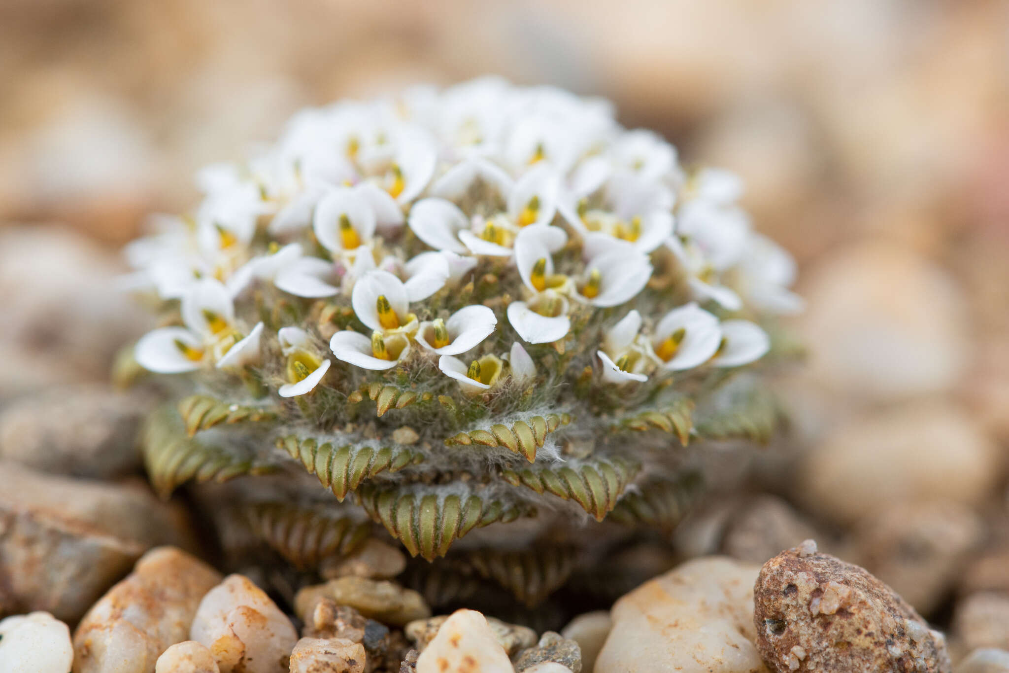
[{"label": "white pebble with orange stains, right of a larger orange-tinged stone", "polygon": [[190,638],[210,648],[221,673],[286,673],[298,633],[269,596],[228,575],[200,601]]}]

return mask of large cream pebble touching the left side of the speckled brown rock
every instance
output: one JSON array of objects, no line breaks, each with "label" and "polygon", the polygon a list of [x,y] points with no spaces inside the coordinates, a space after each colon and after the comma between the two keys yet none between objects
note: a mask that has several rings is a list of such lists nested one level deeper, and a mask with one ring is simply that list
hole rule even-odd
[{"label": "large cream pebble touching the left side of the speckled brown rock", "polygon": [[760,566],[725,557],[687,561],[613,605],[594,673],[765,673],[754,645]]}]

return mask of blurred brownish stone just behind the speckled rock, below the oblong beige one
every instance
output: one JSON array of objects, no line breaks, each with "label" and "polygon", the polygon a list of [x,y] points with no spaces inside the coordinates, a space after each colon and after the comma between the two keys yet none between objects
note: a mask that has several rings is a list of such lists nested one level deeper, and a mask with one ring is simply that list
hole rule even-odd
[{"label": "blurred brownish stone just behind the speckled rock, below the oblong beige one", "polygon": [[932,613],[961,578],[985,527],[954,501],[899,502],[868,517],[853,538],[858,559],[922,614]]}]

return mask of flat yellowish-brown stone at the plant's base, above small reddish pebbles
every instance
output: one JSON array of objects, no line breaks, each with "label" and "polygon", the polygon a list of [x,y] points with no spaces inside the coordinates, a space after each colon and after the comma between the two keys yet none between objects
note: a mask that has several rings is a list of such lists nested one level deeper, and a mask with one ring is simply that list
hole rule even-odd
[{"label": "flat yellowish-brown stone at the plant's base, above small reddish pebbles", "polygon": [[431,609],[417,591],[395,582],[363,577],[338,577],[325,584],[302,588],[295,596],[298,616],[305,620],[320,596],[332,598],[341,605],[350,605],[364,616],[395,627],[431,616]]}]

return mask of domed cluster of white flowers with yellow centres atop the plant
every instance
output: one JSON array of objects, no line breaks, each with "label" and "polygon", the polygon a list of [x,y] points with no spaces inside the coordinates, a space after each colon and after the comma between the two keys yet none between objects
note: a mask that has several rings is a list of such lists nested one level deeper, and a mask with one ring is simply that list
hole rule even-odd
[{"label": "domed cluster of white flowers with yellow centres atop the plant", "polygon": [[668,385],[760,359],[759,320],[801,306],[735,176],[685,172],[605,102],[552,88],[307,110],[198,183],[199,208],[127,249],[173,323],[136,345],[155,372],[254,374],[292,398],[430,363],[487,396],[537,380],[546,345],[568,351],[551,382],[585,354],[595,386]]}]

